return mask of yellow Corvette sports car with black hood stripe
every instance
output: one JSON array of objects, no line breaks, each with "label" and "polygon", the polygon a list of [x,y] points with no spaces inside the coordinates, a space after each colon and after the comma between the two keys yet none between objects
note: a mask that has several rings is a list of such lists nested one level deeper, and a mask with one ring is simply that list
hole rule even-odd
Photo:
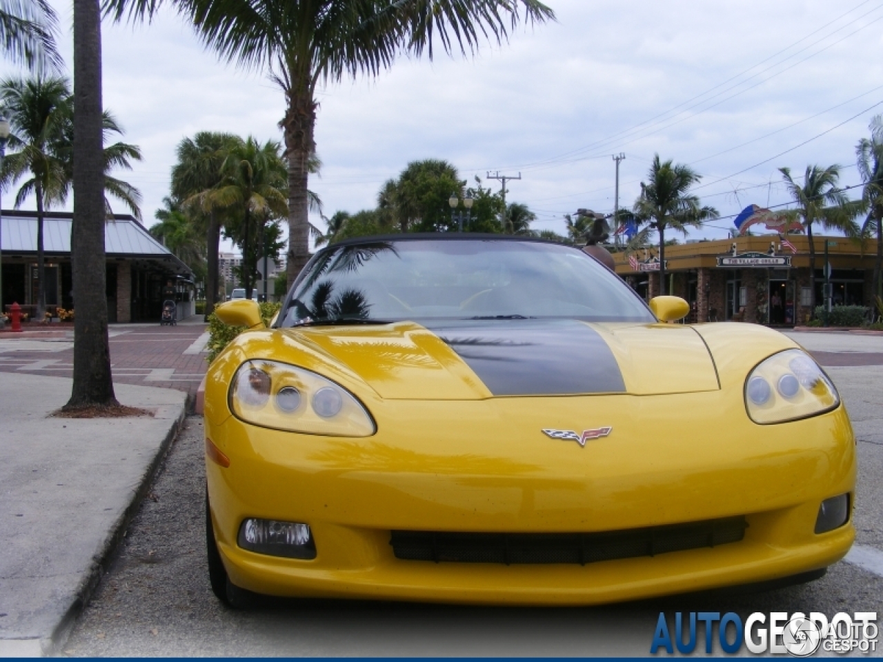
[{"label": "yellow Corvette sports car with black hood stripe", "polygon": [[855,535],[831,380],[751,324],[675,324],[576,248],[317,252],[206,382],[217,596],[589,605],[807,581]]}]

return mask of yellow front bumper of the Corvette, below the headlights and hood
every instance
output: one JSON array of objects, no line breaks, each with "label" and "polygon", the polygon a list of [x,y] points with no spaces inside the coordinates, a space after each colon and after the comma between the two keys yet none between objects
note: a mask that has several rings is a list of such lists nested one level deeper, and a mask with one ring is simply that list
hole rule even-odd
[{"label": "yellow front bumper of the Corvette, below the headlights and hood", "polygon": [[[360,440],[207,419],[230,458],[207,463],[218,547],[233,583],[270,595],[547,605],[762,582],[841,559],[851,519],[813,528],[822,500],[854,491],[845,410],[759,426],[727,401],[717,391],[374,402],[378,433]],[[540,433],[550,421],[614,429],[580,448]],[[740,542],[585,566],[399,560],[389,544],[392,530],[590,532],[738,515]],[[250,516],[308,523],[316,558],[239,548]]]}]

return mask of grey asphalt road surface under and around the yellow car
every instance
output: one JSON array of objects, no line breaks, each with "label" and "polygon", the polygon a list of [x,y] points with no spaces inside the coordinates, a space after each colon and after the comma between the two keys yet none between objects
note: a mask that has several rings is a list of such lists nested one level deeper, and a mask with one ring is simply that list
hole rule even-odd
[{"label": "grey asphalt road surface under and around the yellow car", "polygon": [[[804,345],[838,350],[836,342],[824,338]],[[857,351],[883,352],[883,342],[877,340],[859,345]],[[859,438],[857,542],[883,551],[883,366],[832,367],[828,372],[841,389]],[[743,619],[752,612],[818,611],[831,616],[876,611],[883,620],[883,576],[846,562],[817,582],[778,591],[602,608],[283,600],[233,612],[208,587],[203,490],[202,421],[189,418],[64,654],[644,656],[660,611],[669,618],[675,611],[736,612]],[[876,656],[881,655],[878,650]]]}]

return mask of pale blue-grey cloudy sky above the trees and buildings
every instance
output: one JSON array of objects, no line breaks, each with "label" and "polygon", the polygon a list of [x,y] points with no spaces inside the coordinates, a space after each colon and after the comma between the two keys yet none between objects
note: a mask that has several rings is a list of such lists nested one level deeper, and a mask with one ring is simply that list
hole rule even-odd
[{"label": "pale blue-grey cloudy sky above the trees and buildings", "polygon": [[[883,112],[883,3],[853,0],[547,0],[557,22],[519,29],[478,56],[401,58],[377,79],[323,89],[311,188],[326,214],[374,207],[413,160],[447,159],[462,178],[521,174],[509,201],[563,232],[578,207],[614,207],[612,154],[630,204],[653,159],[689,163],[721,216],[787,201],[778,168],[843,166]],[[65,28],[70,3],[57,2]],[[171,11],[150,26],[104,25],[104,103],[142,147],[127,174],[145,222],[168,193],[177,142],[203,130],[282,136],[283,94],[200,46]],[[64,55],[71,61],[64,34]],[[493,182],[498,187],[498,182]],[[119,211],[123,211],[120,207]],[[313,222],[324,227],[316,217]],[[726,236],[731,219],[689,238]]]}]

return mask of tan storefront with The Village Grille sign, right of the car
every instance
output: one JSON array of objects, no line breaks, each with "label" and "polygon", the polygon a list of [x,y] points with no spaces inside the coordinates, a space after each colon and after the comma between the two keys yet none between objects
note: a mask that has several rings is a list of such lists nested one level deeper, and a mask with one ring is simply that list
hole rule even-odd
[{"label": "tan storefront with The Village Grille sign, right of the car", "polygon": [[[823,305],[827,264],[834,305],[872,306],[876,242],[813,239],[814,292],[809,239],[804,235],[788,235],[784,245],[777,235],[766,235],[666,246],[666,290],[690,304],[691,322],[736,320],[792,327],[810,320],[813,305]],[[614,254],[616,273],[648,300],[660,290],[657,252],[648,247],[631,256]]]}]

